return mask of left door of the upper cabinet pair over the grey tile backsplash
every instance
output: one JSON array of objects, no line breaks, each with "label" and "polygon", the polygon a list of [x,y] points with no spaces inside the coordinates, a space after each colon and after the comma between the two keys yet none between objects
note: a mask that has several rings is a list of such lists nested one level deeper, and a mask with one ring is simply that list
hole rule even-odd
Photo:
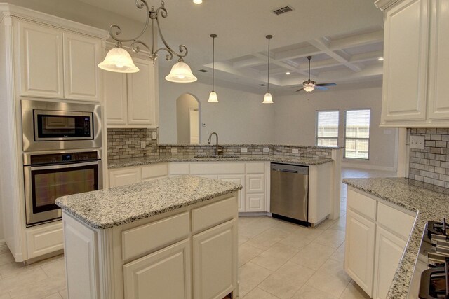
[{"label": "left door of the upper cabinet pair over the grey tile backsplash", "polygon": [[126,74],[100,71],[105,90],[106,124],[126,125],[128,121],[128,92]]}]

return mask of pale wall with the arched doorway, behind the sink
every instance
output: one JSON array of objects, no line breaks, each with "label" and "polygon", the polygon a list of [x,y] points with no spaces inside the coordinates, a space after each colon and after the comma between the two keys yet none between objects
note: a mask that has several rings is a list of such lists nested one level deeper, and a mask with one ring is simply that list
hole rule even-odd
[{"label": "pale wall with the arched doorway, behind the sink", "polygon": [[176,144],[176,99],[184,93],[200,102],[200,122],[206,124],[200,127],[200,144],[206,144],[212,132],[217,132],[220,144],[272,143],[274,107],[262,104],[263,93],[216,87],[219,103],[208,103],[210,85],[168,82],[169,71],[159,68],[159,144]]}]

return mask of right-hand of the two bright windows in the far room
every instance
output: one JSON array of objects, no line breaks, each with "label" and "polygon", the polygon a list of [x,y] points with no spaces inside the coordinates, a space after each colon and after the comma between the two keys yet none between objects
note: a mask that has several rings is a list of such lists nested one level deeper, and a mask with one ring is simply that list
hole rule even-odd
[{"label": "right-hand of the two bright windows in the far room", "polygon": [[370,109],[344,113],[344,158],[367,159],[370,148]]}]

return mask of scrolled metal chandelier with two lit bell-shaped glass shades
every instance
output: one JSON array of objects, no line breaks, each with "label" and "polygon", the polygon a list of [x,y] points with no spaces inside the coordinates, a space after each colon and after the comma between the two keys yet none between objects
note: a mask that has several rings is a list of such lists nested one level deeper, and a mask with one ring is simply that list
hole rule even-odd
[{"label": "scrolled metal chandelier with two lit bell-shaped glass shades", "polygon": [[[154,10],[154,6],[152,6],[151,10],[148,7],[146,0],[136,0],[135,6],[137,8],[142,9],[146,8],[147,10],[147,20],[145,22],[145,26],[142,29],[142,32],[138,36],[135,36],[133,39],[119,39],[117,37],[121,33],[121,28],[119,25],[112,24],[109,26],[109,36],[111,36],[114,41],[116,41],[116,48],[113,48],[112,50],[109,50],[107,53],[105,60],[100,62],[98,64],[98,67],[100,69],[105,69],[106,71],[116,71],[119,73],[135,73],[139,71],[138,67],[135,66],[133,59],[129,55],[129,53],[122,48],[121,43],[125,43],[130,41],[131,42],[131,48],[135,53],[140,52],[140,46],[143,46],[147,48],[149,53],[149,58],[152,60],[153,64],[156,61],[158,57],[158,53],[160,50],[165,50],[168,52],[166,54],[166,60],[172,60],[173,55],[179,57],[177,60],[177,63],[173,65],[170,74],[166,76],[167,81],[171,82],[178,82],[178,83],[189,83],[196,81],[196,77],[194,74],[192,74],[192,70],[190,67],[184,62],[183,58],[187,55],[187,47],[185,45],[180,45],[180,53],[177,53],[175,50],[170,48],[168,46],[166,40],[163,38],[162,32],[161,32],[161,26],[159,25],[158,15],[162,16],[162,18],[167,18],[167,10],[164,6],[163,1],[161,1],[161,6]],[[145,31],[147,31],[147,27],[149,25],[149,20],[151,20],[151,27],[152,27],[152,46],[151,48],[147,46],[146,43],[143,41],[140,41],[139,38],[142,36]],[[163,45],[165,46],[159,49],[154,49],[154,39],[155,39],[155,28],[154,28],[154,20],[156,20],[157,29],[159,31],[159,36],[161,36],[161,40],[163,42]]]}]

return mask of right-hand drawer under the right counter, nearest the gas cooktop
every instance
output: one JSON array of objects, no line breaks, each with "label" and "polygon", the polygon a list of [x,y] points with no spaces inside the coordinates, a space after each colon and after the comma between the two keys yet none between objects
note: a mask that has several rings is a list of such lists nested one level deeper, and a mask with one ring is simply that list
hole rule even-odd
[{"label": "right-hand drawer under the right counter, nearest the gas cooktop", "polygon": [[415,223],[415,217],[379,202],[377,207],[377,223],[392,232],[396,232],[400,237],[408,239],[413,223]]}]

